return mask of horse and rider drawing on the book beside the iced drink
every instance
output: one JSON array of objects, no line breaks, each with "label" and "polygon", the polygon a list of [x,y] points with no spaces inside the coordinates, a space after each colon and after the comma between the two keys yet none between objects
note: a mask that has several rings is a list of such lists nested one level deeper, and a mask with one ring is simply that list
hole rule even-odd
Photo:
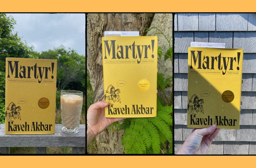
[{"label": "horse and rider drawing on the book beside the iced drink", "polygon": [[[11,108],[10,108],[11,106]],[[13,123],[13,120],[12,119],[20,119],[21,120],[21,116],[20,116],[20,106],[16,107],[16,105],[11,102],[7,109],[6,109],[6,112],[5,112],[5,118],[7,120],[7,122],[11,122]]]}]

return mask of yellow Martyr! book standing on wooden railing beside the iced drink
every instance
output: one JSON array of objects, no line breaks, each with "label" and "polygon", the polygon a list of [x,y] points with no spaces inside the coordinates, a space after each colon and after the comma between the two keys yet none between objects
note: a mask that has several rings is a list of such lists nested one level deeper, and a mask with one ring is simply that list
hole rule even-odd
[{"label": "yellow Martyr! book standing on wooden railing beside the iced drink", "polygon": [[54,134],[57,60],[6,58],[5,133]]}]

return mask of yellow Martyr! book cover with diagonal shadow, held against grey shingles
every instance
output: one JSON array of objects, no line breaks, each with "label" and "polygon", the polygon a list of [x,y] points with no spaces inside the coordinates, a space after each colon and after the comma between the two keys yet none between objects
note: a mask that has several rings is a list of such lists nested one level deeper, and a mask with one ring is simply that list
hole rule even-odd
[{"label": "yellow Martyr! book cover with diagonal shadow, held against grey shingles", "polygon": [[188,48],[187,126],[239,129],[243,49]]}]

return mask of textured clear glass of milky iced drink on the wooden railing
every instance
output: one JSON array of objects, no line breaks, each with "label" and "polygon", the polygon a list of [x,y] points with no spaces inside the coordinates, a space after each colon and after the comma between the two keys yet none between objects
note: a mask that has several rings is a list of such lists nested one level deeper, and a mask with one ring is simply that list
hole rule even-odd
[{"label": "textured clear glass of milky iced drink on the wooden railing", "polygon": [[62,90],[60,92],[60,109],[62,131],[76,134],[83,106],[83,93],[75,90]]}]

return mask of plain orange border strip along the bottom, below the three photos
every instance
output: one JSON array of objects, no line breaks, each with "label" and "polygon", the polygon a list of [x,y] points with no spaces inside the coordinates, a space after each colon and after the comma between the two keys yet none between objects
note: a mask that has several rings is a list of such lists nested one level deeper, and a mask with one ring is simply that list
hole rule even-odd
[{"label": "plain orange border strip along the bottom, below the three photos", "polygon": [[1,167],[251,167],[256,156],[0,156]]}]

